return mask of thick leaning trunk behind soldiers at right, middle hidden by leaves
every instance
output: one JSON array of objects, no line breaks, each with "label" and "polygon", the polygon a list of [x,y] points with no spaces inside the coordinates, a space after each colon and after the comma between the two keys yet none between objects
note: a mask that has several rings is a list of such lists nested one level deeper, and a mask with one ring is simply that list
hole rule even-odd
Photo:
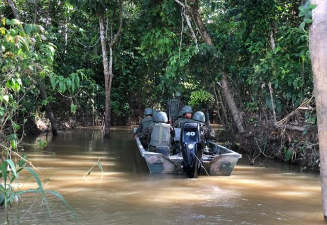
[{"label": "thick leaning trunk behind soldiers at right, middle hidden by leaves", "polygon": [[[199,10],[199,3],[197,0],[193,0],[193,5],[192,5],[192,13],[193,13],[193,18],[194,18],[194,22],[196,23],[196,27],[198,28],[200,34],[201,34],[201,37],[203,39],[203,41],[207,44],[211,44],[212,46],[214,45],[213,44],[213,41],[212,41],[212,38],[211,36],[208,34],[204,24],[203,24],[203,21],[202,21],[202,18],[201,18],[201,14],[200,14],[200,10]],[[236,102],[235,100],[233,99],[233,96],[232,96],[232,93],[229,91],[229,88],[228,88],[228,79],[227,79],[227,75],[226,75],[226,72],[225,71],[222,71],[222,77],[221,77],[221,83],[222,83],[222,86],[223,86],[223,93],[224,93],[224,96],[225,96],[225,99],[226,99],[226,102],[228,104],[228,107],[230,109],[230,112],[231,112],[231,115],[233,117],[233,120],[237,126],[237,129],[240,133],[243,133],[244,132],[244,127],[243,127],[243,118],[240,114],[240,111],[236,105]]]}]

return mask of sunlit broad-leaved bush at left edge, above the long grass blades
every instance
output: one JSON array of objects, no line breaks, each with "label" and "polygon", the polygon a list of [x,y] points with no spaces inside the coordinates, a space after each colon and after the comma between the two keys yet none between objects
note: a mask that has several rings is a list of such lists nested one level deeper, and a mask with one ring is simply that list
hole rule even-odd
[{"label": "sunlit broad-leaved bush at left edge, above the long grass blades", "polygon": [[44,29],[35,30],[31,37],[16,19],[3,18],[0,30],[0,141],[16,150],[21,124],[15,116],[24,114],[22,102],[35,89],[36,80],[52,73],[54,47],[42,43],[38,32]]}]

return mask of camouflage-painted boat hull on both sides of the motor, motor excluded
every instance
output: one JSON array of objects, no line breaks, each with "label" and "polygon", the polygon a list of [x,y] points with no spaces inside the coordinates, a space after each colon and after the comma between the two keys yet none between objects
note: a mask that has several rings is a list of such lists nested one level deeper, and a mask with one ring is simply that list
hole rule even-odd
[{"label": "camouflage-painted boat hull on both sides of the motor, motor excluded", "polygon": [[[181,167],[181,162],[183,161],[181,154],[166,156],[161,153],[146,151],[138,138],[136,138],[136,143],[139,152],[148,165],[150,173],[184,173]],[[201,174],[230,176],[242,155],[212,141],[209,141],[208,147],[217,154],[203,154],[201,161],[204,169],[201,168]]]}]

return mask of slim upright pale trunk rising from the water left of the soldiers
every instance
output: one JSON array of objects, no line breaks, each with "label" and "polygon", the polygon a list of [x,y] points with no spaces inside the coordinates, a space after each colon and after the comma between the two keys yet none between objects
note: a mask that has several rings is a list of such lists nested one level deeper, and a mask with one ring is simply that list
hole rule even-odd
[{"label": "slim upright pale trunk rising from the water left of the soldiers", "polygon": [[[102,60],[103,60],[103,70],[104,70],[104,80],[106,87],[106,108],[105,108],[105,116],[104,116],[104,138],[110,138],[110,94],[111,94],[111,78],[108,65],[108,57],[107,57],[107,46],[106,46],[106,38],[105,38],[105,29],[103,24],[103,15],[98,13],[99,16],[99,26],[100,26],[100,39],[101,39],[101,48],[102,48]],[[110,59],[112,57],[112,49],[110,49]],[[112,63],[112,62],[111,62]],[[111,64],[112,66],[112,64]],[[111,70],[112,71],[112,70]],[[110,84],[110,88],[109,88]]]}]

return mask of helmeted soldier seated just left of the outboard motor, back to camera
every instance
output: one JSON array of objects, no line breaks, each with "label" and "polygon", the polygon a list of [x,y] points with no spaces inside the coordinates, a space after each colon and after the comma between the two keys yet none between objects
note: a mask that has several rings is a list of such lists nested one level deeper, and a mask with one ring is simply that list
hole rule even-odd
[{"label": "helmeted soldier seated just left of the outboard motor, back to camera", "polygon": [[148,151],[155,151],[157,147],[171,147],[171,139],[175,137],[175,132],[170,124],[167,124],[167,114],[160,111],[156,115],[156,124],[150,127],[151,137]]}]

